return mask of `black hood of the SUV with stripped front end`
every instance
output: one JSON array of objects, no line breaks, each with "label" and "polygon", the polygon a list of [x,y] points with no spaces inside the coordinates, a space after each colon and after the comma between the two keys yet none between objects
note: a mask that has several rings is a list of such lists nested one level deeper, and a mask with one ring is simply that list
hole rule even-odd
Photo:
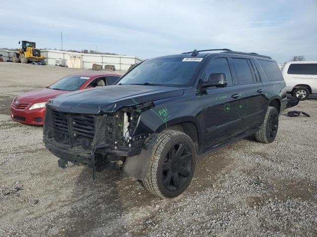
[{"label": "black hood of the SUV with stripped front end", "polygon": [[60,95],[47,107],[60,112],[113,113],[121,107],[182,95],[183,88],[151,85],[110,85]]}]

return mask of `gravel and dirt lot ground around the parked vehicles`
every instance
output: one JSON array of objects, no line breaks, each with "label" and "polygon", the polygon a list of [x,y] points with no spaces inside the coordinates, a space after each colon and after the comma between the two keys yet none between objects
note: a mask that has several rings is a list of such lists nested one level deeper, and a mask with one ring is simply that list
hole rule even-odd
[{"label": "gravel and dirt lot ground around the parked vehicles", "polygon": [[[120,170],[57,167],[42,127],[9,117],[14,95],[79,70],[0,63],[0,236],[317,236],[317,100],[281,115],[272,144],[241,140],[199,160],[181,196]],[[23,76],[22,76],[23,75]]]}]

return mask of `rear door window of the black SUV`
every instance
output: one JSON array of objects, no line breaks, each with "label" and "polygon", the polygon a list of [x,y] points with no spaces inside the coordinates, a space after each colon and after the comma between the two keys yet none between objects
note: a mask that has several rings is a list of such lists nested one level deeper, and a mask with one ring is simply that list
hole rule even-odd
[{"label": "rear door window of the black SUV", "polygon": [[231,62],[237,77],[237,84],[250,84],[254,82],[247,59],[231,58]]}]

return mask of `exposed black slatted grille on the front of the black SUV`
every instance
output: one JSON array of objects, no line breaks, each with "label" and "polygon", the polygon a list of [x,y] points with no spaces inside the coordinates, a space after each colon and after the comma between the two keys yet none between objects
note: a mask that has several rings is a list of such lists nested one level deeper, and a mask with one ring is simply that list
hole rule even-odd
[{"label": "exposed black slatted grille on the front of the black SUV", "polygon": [[95,117],[52,111],[54,138],[62,144],[91,146],[95,136]]}]

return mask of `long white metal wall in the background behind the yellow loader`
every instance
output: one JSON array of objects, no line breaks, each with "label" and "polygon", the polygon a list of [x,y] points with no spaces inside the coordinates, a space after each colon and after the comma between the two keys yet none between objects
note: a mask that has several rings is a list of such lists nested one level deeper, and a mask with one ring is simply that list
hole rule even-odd
[{"label": "long white metal wall in the background behind the yellow loader", "polygon": [[[15,51],[7,49],[0,49],[3,61],[12,60],[12,54]],[[56,59],[68,60],[70,57],[82,57],[83,68],[92,68],[93,64],[100,64],[105,68],[105,65],[114,65],[116,70],[127,70],[131,64],[140,63],[142,60],[136,56],[123,56],[123,55],[111,55],[111,54],[91,54],[91,53],[75,53],[60,50],[45,49],[41,50],[41,55],[45,58],[45,63],[49,65],[55,65]]]}]

